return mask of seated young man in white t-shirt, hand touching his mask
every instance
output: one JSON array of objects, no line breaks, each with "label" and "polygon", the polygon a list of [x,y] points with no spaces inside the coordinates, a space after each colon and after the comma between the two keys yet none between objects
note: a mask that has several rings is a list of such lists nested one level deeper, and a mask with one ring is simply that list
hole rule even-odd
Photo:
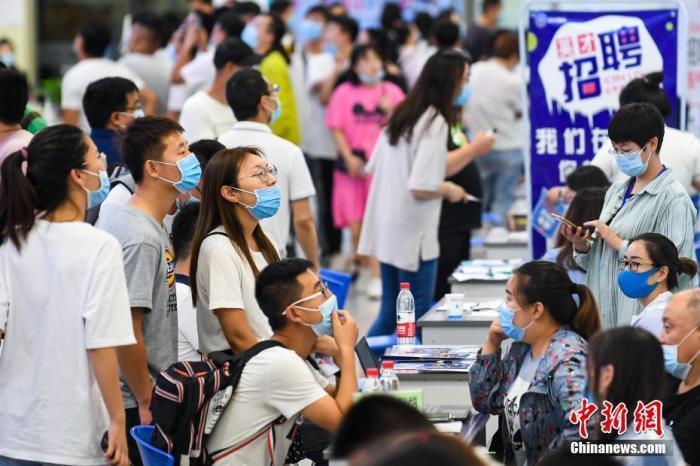
[{"label": "seated young man in white t-shirt, hand touching his mask", "polygon": [[[303,418],[335,432],[352,405],[357,324],[337,310],[312,266],[286,259],[258,276],[256,298],[273,329],[271,339],[281,346],[262,351],[243,369],[207,444],[217,466],[284,464]],[[311,352],[334,358],[337,387],[305,362]]]}]

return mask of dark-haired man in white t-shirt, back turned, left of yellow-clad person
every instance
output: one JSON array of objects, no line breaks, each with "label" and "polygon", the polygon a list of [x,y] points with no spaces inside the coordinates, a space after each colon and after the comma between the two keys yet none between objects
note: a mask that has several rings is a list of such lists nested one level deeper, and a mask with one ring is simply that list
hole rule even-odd
[{"label": "dark-haired man in white t-shirt, back turned, left of yellow-clad person", "polygon": [[197,91],[182,106],[180,125],[185,128],[187,141],[216,139],[231,129],[236,117],[226,102],[226,83],[241,67],[259,62],[260,58],[240,39],[229,38],[219,44],[214,54],[214,83],[206,91]]}]

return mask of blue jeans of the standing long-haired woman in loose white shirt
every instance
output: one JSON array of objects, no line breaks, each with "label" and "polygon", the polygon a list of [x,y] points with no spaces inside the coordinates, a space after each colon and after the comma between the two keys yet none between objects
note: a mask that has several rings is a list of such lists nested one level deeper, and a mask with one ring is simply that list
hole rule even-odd
[{"label": "blue jeans of the standing long-haired woman in loose white shirt", "polygon": [[415,272],[380,263],[382,303],[379,315],[367,332],[368,336],[389,335],[396,331],[396,297],[399,295],[401,282],[411,284],[411,293],[416,302],[416,321],[430,310],[435,292],[437,262],[437,259],[420,261]]}]

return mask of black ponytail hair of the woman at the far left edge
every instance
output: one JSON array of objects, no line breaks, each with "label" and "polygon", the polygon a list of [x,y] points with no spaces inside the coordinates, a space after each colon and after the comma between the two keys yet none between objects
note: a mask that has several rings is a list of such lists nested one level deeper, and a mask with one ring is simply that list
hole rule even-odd
[{"label": "black ponytail hair of the woman at the far left edge", "polygon": [[50,214],[68,198],[68,174],[83,167],[87,151],[79,128],[56,125],[5,159],[0,167],[0,243],[9,237],[21,249],[36,215]]}]

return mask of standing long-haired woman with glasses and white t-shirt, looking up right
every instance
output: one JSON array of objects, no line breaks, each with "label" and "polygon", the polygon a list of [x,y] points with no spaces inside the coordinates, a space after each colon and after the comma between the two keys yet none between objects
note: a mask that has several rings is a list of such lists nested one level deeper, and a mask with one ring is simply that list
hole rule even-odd
[{"label": "standing long-haired woman with glasses and white t-shirt, looking up right", "polygon": [[279,260],[259,223],[279,209],[276,175],[255,147],[219,151],[207,164],[190,270],[202,353],[240,352],[272,335],[255,278]]}]

